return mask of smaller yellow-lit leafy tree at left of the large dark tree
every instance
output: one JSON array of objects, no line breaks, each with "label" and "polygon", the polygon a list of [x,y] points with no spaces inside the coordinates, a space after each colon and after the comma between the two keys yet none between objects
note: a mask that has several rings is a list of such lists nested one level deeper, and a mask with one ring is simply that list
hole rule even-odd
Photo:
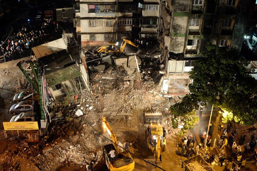
[{"label": "smaller yellow-lit leafy tree at left of the large dark tree", "polygon": [[188,129],[192,129],[199,118],[196,117],[194,109],[197,107],[197,98],[191,94],[186,95],[182,102],[170,107],[172,115],[171,123],[173,128],[178,128],[179,122],[184,123],[179,134],[184,134]]}]

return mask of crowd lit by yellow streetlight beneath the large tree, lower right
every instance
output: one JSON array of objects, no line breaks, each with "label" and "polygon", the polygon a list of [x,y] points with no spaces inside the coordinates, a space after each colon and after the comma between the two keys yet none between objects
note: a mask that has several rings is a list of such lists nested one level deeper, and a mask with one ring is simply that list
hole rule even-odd
[{"label": "crowd lit by yellow streetlight beneath the large tree, lower right", "polygon": [[[216,147],[220,150],[219,154],[219,160],[218,164],[220,167],[225,164],[225,170],[227,171],[227,166],[229,162],[233,162],[232,167],[230,168],[230,171],[239,171],[240,169],[244,169],[245,162],[246,162],[246,156],[249,153],[253,153],[254,149],[256,148],[256,136],[255,134],[251,135],[250,142],[246,142],[247,135],[245,133],[242,133],[240,135],[240,138],[238,142],[236,142],[235,138],[238,136],[237,134],[237,128],[234,128],[233,131],[231,130],[233,128],[233,125],[230,121],[227,123],[227,128],[225,128],[223,125],[218,125],[218,138],[216,140]],[[182,148],[181,148],[181,156],[187,157],[188,159],[192,157],[193,155],[198,155],[199,150],[202,149],[202,155],[203,158],[210,163],[210,165],[213,167],[214,165],[218,165],[215,162],[216,155],[213,153],[212,155],[209,155],[208,153],[204,152],[205,144],[207,147],[210,147],[211,142],[211,136],[213,133],[212,124],[209,125],[209,132],[207,135],[207,128],[202,127],[199,130],[199,136],[201,143],[195,144],[195,137],[193,137],[192,134],[188,135],[187,137],[184,136],[182,139]],[[230,133],[230,131],[232,131]],[[244,152],[242,152],[241,146],[244,145]],[[229,151],[229,153],[228,153]]]}]

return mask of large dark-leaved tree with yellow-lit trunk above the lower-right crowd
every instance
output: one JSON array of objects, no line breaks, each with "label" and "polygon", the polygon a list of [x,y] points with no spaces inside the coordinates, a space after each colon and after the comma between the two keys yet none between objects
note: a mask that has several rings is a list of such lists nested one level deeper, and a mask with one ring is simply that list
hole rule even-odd
[{"label": "large dark-leaved tree with yellow-lit trunk above the lower-right crowd", "polygon": [[[245,73],[246,60],[237,52],[229,51],[228,47],[211,43],[208,43],[204,56],[195,61],[194,68],[189,72],[193,80],[189,84],[190,92],[199,101],[233,112],[233,116],[240,120],[256,122],[257,84],[252,76]],[[212,142],[216,136],[219,115],[216,115]]]}]

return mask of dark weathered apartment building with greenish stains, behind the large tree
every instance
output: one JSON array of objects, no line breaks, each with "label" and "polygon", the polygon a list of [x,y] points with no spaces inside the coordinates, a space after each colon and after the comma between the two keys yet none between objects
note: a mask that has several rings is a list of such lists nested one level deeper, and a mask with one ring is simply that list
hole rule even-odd
[{"label": "dark weathered apartment building with greenish stains, behind the large tree", "polygon": [[[240,51],[249,15],[247,8],[254,3],[251,0],[162,1],[161,40],[167,59],[163,79],[190,83],[188,68],[202,57],[208,42]],[[164,82],[163,85],[166,86]]]}]

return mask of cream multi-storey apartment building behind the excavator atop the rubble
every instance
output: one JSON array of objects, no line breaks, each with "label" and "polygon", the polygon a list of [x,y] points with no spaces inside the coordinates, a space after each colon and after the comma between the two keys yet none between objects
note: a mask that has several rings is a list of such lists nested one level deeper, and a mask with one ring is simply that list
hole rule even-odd
[{"label": "cream multi-storey apartment building behind the excavator atop the rubble", "polygon": [[158,0],[77,0],[74,9],[74,27],[81,38],[81,46],[157,37]]}]

